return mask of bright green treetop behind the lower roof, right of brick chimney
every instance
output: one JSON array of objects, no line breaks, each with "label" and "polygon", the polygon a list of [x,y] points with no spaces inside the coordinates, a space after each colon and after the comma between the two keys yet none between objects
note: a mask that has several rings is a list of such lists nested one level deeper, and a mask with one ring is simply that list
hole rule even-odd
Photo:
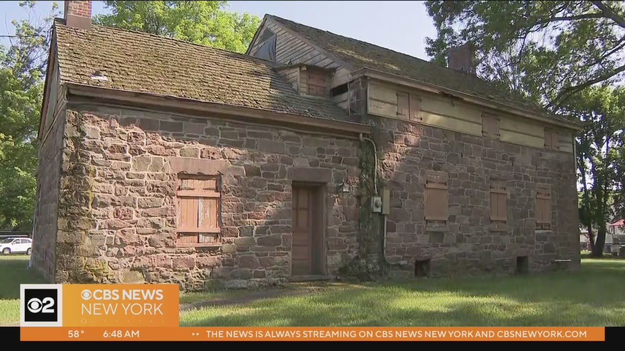
[{"label": "bright green treetop behind the lower roof, right of brick chimney", "polygon": [[148,32],[196,44],[245,52],[260,19],[225,11],[227,1],[105,1],[111,14],[94,17],[103,26]]}]

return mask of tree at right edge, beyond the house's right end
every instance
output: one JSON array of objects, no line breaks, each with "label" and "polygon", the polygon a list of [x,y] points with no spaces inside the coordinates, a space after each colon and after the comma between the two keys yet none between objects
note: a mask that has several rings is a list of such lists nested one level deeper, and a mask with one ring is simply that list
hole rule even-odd
[{"label": "tree at right edge, beyond the house's right end", "polygon": [[[582,130],[577,135],[577,168],[582,186],[580,221],[588,229],[591,255],[599,257],[606,242],[606,222],[614,212],[613,194],[621,187],[625,88],[607,84],[587,88],[561,110],[581,121]],[[593,225],[597,227],[596,239]]]}]

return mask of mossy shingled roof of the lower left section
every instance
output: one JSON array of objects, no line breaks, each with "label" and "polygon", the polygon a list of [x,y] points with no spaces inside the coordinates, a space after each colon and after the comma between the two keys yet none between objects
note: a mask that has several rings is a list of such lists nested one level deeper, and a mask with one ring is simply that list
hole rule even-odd
[{"label": "mossy shingled roof of the lower left section", "polygon": [[[349,121],[330,99],[298,95],[274,62],[143,32],[54,22],[61,81]],[[91,79],[99,71],[106,81]]]}]

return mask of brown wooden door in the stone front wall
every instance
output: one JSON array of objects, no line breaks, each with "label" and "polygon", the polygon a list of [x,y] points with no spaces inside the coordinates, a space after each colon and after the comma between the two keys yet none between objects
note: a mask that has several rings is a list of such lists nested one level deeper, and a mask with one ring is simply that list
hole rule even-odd
[{"label": "brown wooden door in the stone front wall", "polygon": [[322,274],[319,187],[293,185],[291,275]]}]

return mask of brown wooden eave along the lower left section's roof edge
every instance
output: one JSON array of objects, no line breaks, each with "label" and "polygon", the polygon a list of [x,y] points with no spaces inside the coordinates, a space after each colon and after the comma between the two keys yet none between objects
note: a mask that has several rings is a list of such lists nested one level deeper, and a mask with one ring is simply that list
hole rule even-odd
[{"label": "brown wooden eave along the lower left section's roof edge", "polygon": [[[372,127],[356,122],[341,121],[323,117],[306,116],[291,112],[259,109],[220,102],[201,101],[185,97],[154,94],[151,92],[128,91],[109,87],[91,86],[73,82],[63,83],[68,88],[69,103],[71,97],[84,97],[94,104],[113,103],[123,106],[153,107],[155,111],[190,112],[207,116],[229,116],[231,119],[247,119],[261,124],[292,125],[302,128],[302,132],[311,131],[316,134],[341,135],[358,137],[369,134]],[[75,101],[75,99],[74,99]],[[184,111],[184,112],[183,112]]]}]

